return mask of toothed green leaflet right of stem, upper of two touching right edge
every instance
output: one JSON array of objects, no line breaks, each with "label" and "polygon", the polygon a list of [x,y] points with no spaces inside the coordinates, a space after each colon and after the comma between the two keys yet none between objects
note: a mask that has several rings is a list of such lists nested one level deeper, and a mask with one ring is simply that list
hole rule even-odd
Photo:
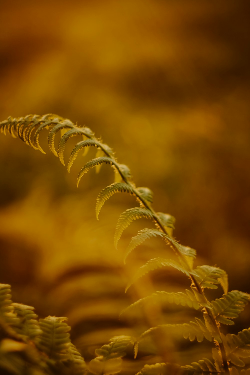
[{"label": "toothed green leaflet right of stem, upper of two touching right edge", "polygon": [[211,307],[216,320],[223,324],[234,324],[231,319],[238,318],[238,314],[249,303],[250,295],[233,290],[224,294],[222,298],[211,302]]}]

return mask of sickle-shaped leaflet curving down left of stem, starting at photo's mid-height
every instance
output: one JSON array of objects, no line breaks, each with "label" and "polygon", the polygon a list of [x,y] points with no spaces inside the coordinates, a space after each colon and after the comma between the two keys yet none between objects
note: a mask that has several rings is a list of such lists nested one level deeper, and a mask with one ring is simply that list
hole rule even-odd
[{"label": "sickle-shaped leaflet curving down left of stem, starting at photo's mid-height", "polygon": [[103,189],[100,194],[98,195],[97,201],[96,201],[96,218],[99,220],[99,213],[100,210],[102,209],[104,203],[115,193],[122,193],[122,192],[127,192],[131,195],[135,195],[134,189],[132,186],[124,183],[124,182],[117,182],[113,183],[105,189]]}]

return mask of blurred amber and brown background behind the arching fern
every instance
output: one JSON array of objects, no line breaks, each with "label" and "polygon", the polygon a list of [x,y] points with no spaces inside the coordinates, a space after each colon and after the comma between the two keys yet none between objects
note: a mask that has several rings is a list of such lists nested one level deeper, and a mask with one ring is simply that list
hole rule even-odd
[{"label": "blurred amber and brown background behind the arching fern", "polygon": [[[0,6],[0,120],[56,113],[90,127],[132,169],[136,185],[153,190],[155,210],[177,218],[174,236],[197,249],[197,264],[225,269],[230,290],[250,292],[250,3]],[[49,151],[0,137],[0,282],[40,317],[68,317],[87,360],[112,336],[133,333],[131,321],[118,320],[136,298],[124,288],[138,265],[165,251],[149,241],[124,268],[130,238],[150,224],[133,223],[114,249],[119,214],[135,201],[112,197],[97,222],[95,199],[113,174],[108,166],[91,171],[77,189],[79,168],[91,156],[78,157],[68,174]],[[157,273],[147,283],[149,293],[179,291],[185,282]],[[189,321],[190,312],[180,311],[164,314]],[[249,327],[249,314],[235,332]],[[203,350],[181,349],[173,355],[184,363]],[[146,357],[154,361],[139,353],[138,368]]]}]

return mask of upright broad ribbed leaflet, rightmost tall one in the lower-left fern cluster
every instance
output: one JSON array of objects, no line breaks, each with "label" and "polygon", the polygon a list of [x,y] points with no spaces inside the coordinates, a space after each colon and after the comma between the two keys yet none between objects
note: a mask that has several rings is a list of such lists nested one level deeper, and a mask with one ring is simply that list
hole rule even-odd
[{"label": "upright broad ribbed leaflet, rightmost tall one in the lower-left fern cluster", "polygon": [[50,359],[66,360],[70,347],[70,327],[64,323],[67,318],[47,317],[39,320],[42,334],[37,337],[37,347]]}]

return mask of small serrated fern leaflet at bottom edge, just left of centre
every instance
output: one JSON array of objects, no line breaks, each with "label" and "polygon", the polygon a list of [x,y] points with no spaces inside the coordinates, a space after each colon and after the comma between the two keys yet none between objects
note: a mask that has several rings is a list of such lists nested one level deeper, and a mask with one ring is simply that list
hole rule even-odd
[{"label": "small serrated fern leaflet at bottom edge, just left of centre", "polygon": [[130,344],[130,336],[118,336],[110,340],[108,345],[96,349],[96,357],[88,367],[88,371],[95,375],[113,375],[121,371],[122,357],[126,355],[126,348]]}]

